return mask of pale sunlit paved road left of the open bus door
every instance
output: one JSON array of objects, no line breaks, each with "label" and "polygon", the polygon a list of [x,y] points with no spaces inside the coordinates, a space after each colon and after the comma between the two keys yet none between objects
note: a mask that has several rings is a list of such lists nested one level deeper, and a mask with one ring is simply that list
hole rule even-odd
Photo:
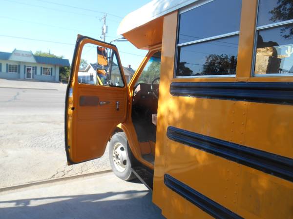
[{"label": "pale sunlit paved road left of the open bus door", "polygon": [[65,89],[57,83],[0,79],[0,188],[110,169],[107,151],[95,161],[67,166]]}]

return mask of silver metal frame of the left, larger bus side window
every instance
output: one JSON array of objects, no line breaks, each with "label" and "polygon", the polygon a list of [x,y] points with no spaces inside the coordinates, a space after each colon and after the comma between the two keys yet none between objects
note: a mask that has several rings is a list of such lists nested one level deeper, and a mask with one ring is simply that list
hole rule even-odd
[{"label": "silver metal frame of the left, larger bus side window", "polygon": [[[182,46],[187,46],[187,45],[192,45],[192,44],[196,44],[196,43],[202,43],[202,42],[208,42],[211,40],[215,40],[215,39],[221,39],[221,38],[225,38],[225,37],[233,37],[233,36],[239,36],[240,37],[240,24],[241,24],[241,14],[240,14],[240,24],[239,24],[239,31],[234,31],[234,32],[230,32],[227,34],[221,34],[221,35],[217,35],[217,36],[213,36],[213,37],[206,37],[203,39],[198,39],[198,40],[193,40],[193,41],[189,41],[189,42],[185,42],[185,43],[178,43],[178,38],[179,38],[179,24],[180,24],[180,15],[188,12],[194,8],[200,7],[202,5],[205,5],[209,2],[212,2],[214,0],[199,0],[197,2],[194,2],[191,5],[188,5],[182,9],[179,10],[179,13],[177,15],[177,31],[176,31],[176,46],[175,46],[175,61],[174,61],[174,73],[173,73],[173,78],[219,78],[219,77],[236,77],[236,69],[235,69],[235,74],[221,74],[221,75],[196,75],[196,76],[177,76],[177,67],[178,67],[178,55],[179,55],[179,48]],[[239,42],[238,42],[238,49],[239,49]],[[238,51],[237,51],[237,55],[238,55]]]}]

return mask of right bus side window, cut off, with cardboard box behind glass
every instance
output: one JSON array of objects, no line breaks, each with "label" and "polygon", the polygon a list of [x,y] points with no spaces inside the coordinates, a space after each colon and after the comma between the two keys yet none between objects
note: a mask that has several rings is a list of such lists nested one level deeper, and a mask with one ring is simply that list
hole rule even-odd
[{"label": "right bus side window, cut off, with cardboard box behind glass", "polygon": [[[293,75],[293,5],[259,0],[254,75]],[[286,7],[287,7],[286,6]],[[290,20],[282,24],[278,22]]]}]

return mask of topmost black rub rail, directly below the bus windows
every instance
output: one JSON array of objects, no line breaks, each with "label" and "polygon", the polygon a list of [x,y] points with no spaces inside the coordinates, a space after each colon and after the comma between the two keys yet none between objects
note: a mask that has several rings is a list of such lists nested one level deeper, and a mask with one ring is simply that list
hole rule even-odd
[{"label": "topmost black rub rail, directly below the bus windows", "polygon": [[293,105],[293,82],[173,82],[173,96]]}]

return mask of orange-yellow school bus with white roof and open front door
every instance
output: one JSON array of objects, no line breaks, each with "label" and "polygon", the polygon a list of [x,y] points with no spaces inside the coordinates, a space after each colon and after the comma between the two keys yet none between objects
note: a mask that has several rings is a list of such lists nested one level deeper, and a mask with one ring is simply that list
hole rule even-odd
[{"label": "orange-yellow school bus with white roof and open front door", "polygon": [[118,34],[148,51],[129,83],[115,45],[77,38],[68,164],[109,142],[116,176],[167,218],[293,219],[292,1],[155,0]]}]

